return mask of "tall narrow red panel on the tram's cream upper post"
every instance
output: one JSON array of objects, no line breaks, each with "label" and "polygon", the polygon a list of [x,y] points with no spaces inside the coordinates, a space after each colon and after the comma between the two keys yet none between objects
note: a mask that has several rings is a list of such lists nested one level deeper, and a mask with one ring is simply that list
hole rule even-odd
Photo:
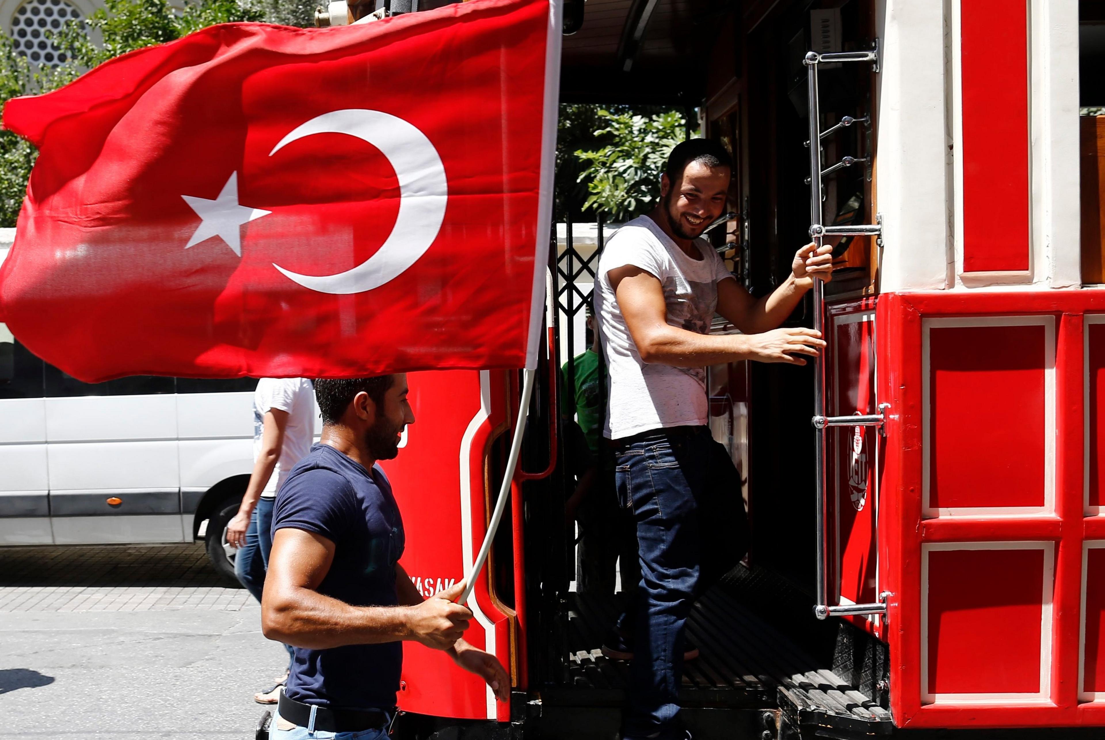
[{"label": "tall narrow red panel on the tram's cream upper post", "polygon": [[964,271],[1029,269],[1025,0],[960,0]]}]

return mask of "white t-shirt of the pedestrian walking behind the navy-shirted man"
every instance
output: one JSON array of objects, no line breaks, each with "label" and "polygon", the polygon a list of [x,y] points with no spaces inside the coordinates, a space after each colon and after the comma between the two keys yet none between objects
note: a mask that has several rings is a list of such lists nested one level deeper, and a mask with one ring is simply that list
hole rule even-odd
[{"label": "white t-shirt of the pedestrian walking behind the navy-shirted man", "polygon": [[315,387],[311,381],[302,377],[263,377],[257,381],[257,389],[253,392],[254,462],[261,455],[265,414],[274,408],[287,411],[287,425],[284,427],[284,446],[281,447],[280,459],[261,491],[262,499],[276,498],[276,490],[287,478],[287,473],[311,450],[311,441],[315,437]]}]

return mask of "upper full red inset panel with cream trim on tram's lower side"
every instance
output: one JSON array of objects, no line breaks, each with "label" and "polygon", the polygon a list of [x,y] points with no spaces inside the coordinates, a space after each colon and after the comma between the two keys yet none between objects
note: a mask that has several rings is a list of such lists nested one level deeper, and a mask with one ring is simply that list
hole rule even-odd
[{"label": "upper full red inset panel with cream trim on tram's lower side", "polygon": [[1044,327],[929,330],[929,506],[1044,506]]}]

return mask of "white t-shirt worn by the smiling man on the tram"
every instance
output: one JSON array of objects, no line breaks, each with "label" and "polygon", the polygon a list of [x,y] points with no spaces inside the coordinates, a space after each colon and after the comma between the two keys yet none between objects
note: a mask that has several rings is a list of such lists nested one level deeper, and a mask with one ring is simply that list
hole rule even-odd
[{"label": "white t-shirt worn by the smiling man on the tram", "polygon": [[696,239],[694,243],[701,260],[687,257],[655,221],[641,216],[610,238],[599,259],[594,293],[610,398],[603,435],[610,439],[709,421],[706,368],[642,362],[607,277],[627,264],[651,273],[664,289],[667,323],[708,334],[717,306],[717,283],[733,275],[709,242]]}]

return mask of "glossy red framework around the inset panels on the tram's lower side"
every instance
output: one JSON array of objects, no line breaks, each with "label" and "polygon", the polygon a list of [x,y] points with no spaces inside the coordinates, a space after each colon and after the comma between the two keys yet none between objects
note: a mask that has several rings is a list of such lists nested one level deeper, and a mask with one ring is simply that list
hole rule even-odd
[{"label": "glossy red framework around the inset panels on the tram's lower side", "polygon": [[[1082,540],[1105,540],[1105,517],[1082,517],[1086,459],[1083,400],[1087,358],[1084,350],[1091,344],[1099,346],[1105,340],[1101,334],[1088,338],[1083,319],[1084,314],[1103,312],[1103,289],[932,291],[884,293],[878,298],[878,394],[880,400],[893,405],[886,424],[885,468],[880,480],[880,587],[891,592],[887,600],[891,628],[886,630],[891,655],[890,706],[898,727],[1105,727],[1105,702],[1078,702],[1076,696],[1082,688],[1077,680],[1082,655]],[[997,520],[974,515],[924,520],[922,480],[925,458],[932,450],[927,437],[922,435],[926,408],[922,374],[923,321],[1025,313],[1056,317],[1054,512]],[[1024,346],[1023,342],[1015,343]],[[1013,403],[1004,399],[1003,405]],[[989,414],[992,408],[978,404],[976,415]],[[979,697],[978,703],[960,700],[923,705],[923,695],[929,687],[920,681],[922,545],[926,542],[981,541],[1054,542],[1048,700],[1027,698],[992,703],[982,702]],[[1015,564],[1009,564],[1007,570],[1013,574],[1010,577],[1020,579]],[[1099,576],[1092,577],[1101,581]],[[965,606],[971,607],[970,604]],[[986,617],[983,621],[986,629],[1004,628],[996,619]],[[1036,628],[1033,627],[1033,632]],[[1012,645],[1020,638],[1007,642]],[[1003,667],[997,663],[988,669],[1001,675]]]}]

